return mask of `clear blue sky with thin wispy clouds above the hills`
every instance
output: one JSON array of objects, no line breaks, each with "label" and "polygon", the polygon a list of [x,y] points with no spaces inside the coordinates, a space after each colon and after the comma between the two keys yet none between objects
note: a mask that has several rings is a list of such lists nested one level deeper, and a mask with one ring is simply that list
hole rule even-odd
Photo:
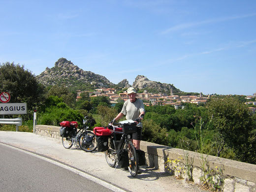
[{"label": "clear blue sky with thin wispy clouds above the hills", "polygon": [[0,63],[66,58],[112,83],[256,93],[256,0],[0,0]]}]

